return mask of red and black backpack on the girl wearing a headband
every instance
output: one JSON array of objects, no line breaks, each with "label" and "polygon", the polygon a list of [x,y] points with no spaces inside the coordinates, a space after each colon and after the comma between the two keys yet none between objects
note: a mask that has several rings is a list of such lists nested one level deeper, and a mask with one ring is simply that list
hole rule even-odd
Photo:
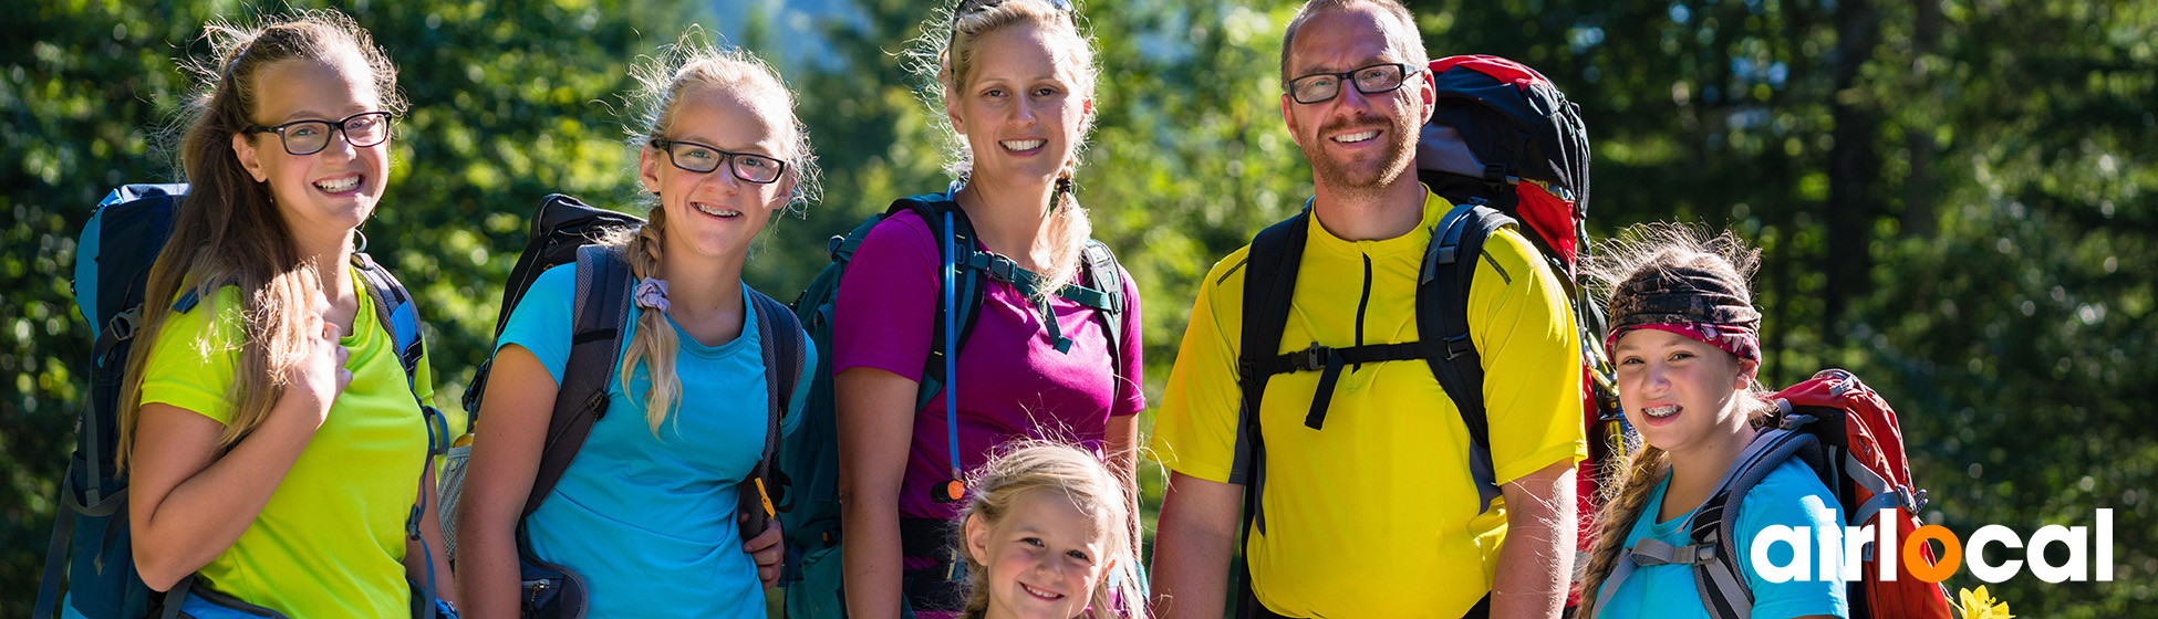
[{"label": "red and black backpack on the girl wearing a headband", "polygon": [[[1852,617],[1949,619],[1947,591],[1918,580],[1901,561],[1903,541],[1921,526],[1918,507],[1925,507],[1925,490],[1910,483],[1903,431],[1888,401],[1841,369],[1824,369],[1767,399],[1783,410],[1778,427],[1761,429],[1724,472],[1709,500],[1688,518],[1692,544],[1629,548],[1601,589],[1618,591],[1618,582],[1636,565],[1692,563],[1694,584],[1709,615],[1748,617],[1752,591],[1746,589],[1746,574],[1737,561],[1739,552],[1748,550],[1735,548],[1739,505],[1772,470],[1787,459],[1800,459],[1836,494],[1849,526],[1880,531],[1884,513],[1895,520],[1895,548],[1875,548],[1875,541],[1867,541],[1862,556],[1845,556],[1858,561],[1865,576],[1845,589]],[[1931,546],[1921,546],[1921,556],[1927,565],[1936,563]],[[1880,578],[1882,561],[1897,565],[1895,580]],[[1608,595],[1599,595],[1595,606],[1601,608],[1606,600]]]}]

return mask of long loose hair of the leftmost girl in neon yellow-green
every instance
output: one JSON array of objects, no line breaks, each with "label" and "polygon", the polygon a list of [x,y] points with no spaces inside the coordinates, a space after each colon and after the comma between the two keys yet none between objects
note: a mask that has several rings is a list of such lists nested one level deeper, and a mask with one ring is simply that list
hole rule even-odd
[{"label": "long loose hair of the leftmost girl in neon yellow-green", "polygon": [[[231,421],[218,431],[222,453],[246,438],[270,416],[270,408],[298,380],[313,339],[309,332],[315,298],[322,295],[317,265],[293,246],[285,216],[268,183],[240,164],[233,136],[255,125],[261,108],[259,75],[283,60],[358,63],[373,80],[380,110],[404,112],[397,95],[397,67],[375,47],[373,39],[352,17],[324,11],[293,11],[268,17],[259,26],[209,22],[203,39],[216,50],[211,60],[183,63],[196,75],[179,134],[179,166],[188,177],[188,194],[173,209],[173,235],[149,270],[142,302],[142,330],[134,336],[127,377],[119,401],[119,451],[114,464],[125,470],[134,451],[134,431],[142,408],[142,375],[149,349],[173,315],[173,298],[192,289],[203,306],[220,313],[216,291],[240,287],[240,360],[224,401]],[[261,140],[250,136],[248,140]],[[268,138],[276,147],[278,138]],[[373,319],[363,315],[360,319]],[[196,341],[201,354],[209,341]]]}]

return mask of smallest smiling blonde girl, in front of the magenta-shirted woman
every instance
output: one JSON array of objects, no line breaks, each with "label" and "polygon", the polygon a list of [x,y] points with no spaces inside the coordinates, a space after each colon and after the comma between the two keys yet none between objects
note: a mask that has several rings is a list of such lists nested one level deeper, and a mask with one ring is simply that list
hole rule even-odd
[{"label": "smallest smiling blonde girl, in front of the magenta-shirted woman", "polygon": [[1146,617],[1131,496],[1094,453],[1027,442],[967,483],[965,619]]}]

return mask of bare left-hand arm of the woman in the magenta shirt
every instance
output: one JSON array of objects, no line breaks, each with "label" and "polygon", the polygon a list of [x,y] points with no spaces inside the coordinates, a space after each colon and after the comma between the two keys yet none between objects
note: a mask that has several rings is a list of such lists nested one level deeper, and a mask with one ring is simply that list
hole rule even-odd
[{"label": "bare left-hand arm of the woman in the magenta shirt", "polygon": [[846,613],[900,617],[900,481],[915,434],[919,382],[857,367],[833,377],[839,421],[839,526]]}]

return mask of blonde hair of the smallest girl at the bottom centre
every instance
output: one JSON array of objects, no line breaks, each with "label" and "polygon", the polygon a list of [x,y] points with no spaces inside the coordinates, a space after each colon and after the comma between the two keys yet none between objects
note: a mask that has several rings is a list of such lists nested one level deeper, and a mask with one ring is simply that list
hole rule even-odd
[{"label": "blonde hair of the smallest girl at the bottom centre", "polygon": [[[1146,597],[1139,593],[1137,582],[1137,561],[1135,556],[1135,513],[1131,511],[1131,496],[1124,494],[1124,483],[1118,481],[1116,472],[1109,470],[1094,453],[1079,446],[1029,440],[1010,446],[1008,453],[997,455],[967,481],[967,509],[960,513],[958,548],[960,556],[967,561],[967,608],[960,613],[965,619],[980,619],[988,613],[991,587],[986,582],[988,567],[973,556],[971,546],[967,546],[965,522],[971,518],[982,518],[982,524],[995,526],[1010,513],[1019,500],[1036,492],[1057,492],[1068,498],[1079,511],[1094,513],[1094,535],[1101,537],[1103,554],[1096,565],[1116,561],[1109,569],[1114,574],[1103,574],[1101,582],[1088,595],[1088,606],[1094,608],[1096,617],[1114,617],[1107,608],[1116,608],[1122,602],[1129,619],[1146,619]],[[1111,576],[1120,574],[1120,582],[1109,584]]]}]

